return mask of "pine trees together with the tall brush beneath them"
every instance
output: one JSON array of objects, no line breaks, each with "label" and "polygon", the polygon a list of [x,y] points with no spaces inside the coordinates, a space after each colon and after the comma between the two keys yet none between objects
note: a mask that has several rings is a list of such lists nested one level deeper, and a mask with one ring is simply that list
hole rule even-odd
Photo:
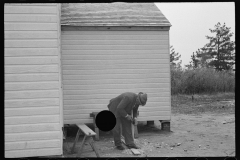
[{"label": "pine trees together with the tall brush beneath them", "polygon": [[235,42],[233,33],[224,23],[209,29],[213,36],[191,55],[189,64],[181,67],[181,55],[170,46],[172,94],[195,94],[235,91]]}]

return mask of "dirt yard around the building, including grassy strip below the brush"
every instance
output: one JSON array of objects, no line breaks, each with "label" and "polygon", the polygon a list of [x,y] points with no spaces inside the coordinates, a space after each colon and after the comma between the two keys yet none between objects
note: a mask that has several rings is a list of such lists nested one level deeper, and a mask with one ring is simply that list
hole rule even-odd
[{"label": "dirt yard around the building, including grassy strip below the brush", "polygon": [[[235,156],[235,100],[218,95],[207,96],[207,101],[204,96],[195,97],[194,101],[189,96],[172,97],[170,132],[161,130],[159,121],[154,121],[154,126],[139,122],[135,143],[141,148],[141,155],[133,155],[129,149],[117,150],[112,135],[100,132],[100,140],[95,141],[100,157]],[[83,139],[80,136],[75,153],[71,154],[76,131],[72,133],[64,140],[64,157],[75,157]],[[84,146],[81,157],[96,157],[89,144]]]}]

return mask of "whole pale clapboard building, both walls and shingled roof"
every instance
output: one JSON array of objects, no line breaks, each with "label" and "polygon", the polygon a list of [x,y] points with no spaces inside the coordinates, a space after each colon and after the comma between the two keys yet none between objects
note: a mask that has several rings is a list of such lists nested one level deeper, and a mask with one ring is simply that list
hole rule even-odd
[{"label": "whole pale clapboard building, both walls and shingled roof", "polygon": [[123,92],[170,120],[170,26],[154,3],[5,4],[5,157],[63,154],[63,125]]}]

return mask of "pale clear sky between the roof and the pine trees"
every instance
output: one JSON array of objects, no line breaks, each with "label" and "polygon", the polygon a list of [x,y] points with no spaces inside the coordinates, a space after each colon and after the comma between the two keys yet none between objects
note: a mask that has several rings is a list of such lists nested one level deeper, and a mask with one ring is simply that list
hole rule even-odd
[{"label": "pale clear sky between the roof and the pine trees", "polygon": [[209,29],[225,22],[234,33],[235,41],[235,3],[234,2],[193,2],[193,3],[155,3],[170,21],[170,45],[181,55],[182,66],[189,64],[193,52],[209,42],[206,36],[213,36]]}]

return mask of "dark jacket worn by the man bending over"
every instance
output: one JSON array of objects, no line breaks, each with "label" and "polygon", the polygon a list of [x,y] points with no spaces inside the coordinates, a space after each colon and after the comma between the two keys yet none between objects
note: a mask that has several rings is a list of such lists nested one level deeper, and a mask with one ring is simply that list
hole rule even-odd
[{"label": "dark jacket worn by the man bending over", "polygon": [[[135,104],[137,96],[137,94],[132,92],[122,93],[116,98],[110,100],[108,109],[116,116],[116,118],[125,117],[127,114],[131,116],[132,111],[133,117],[137,117],[139,107],[139,105]],[[134,107],[134,105],[136,106]]]}]

